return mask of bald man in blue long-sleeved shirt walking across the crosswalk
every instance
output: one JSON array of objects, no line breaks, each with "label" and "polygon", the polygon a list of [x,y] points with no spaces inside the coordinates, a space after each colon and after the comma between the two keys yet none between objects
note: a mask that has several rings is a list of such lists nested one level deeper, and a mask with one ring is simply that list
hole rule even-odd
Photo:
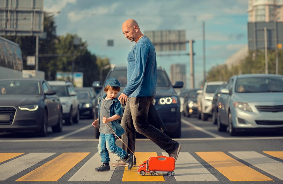
[{"label": "bald man in blue long-sleeved shirt walking across the crosswalk", "polygon": [[[122,135],[123,150],[128,154],[134,152],[136,144],[136,131],[152,140],[169,156],[177,160],[181,144],[173,141],[165,133],[150,125],[147,117],[149,106],[153,102],[156,92],[157,68],[156,53],[151,41],[144,36],[138,23],[128,19],[122,25],[125,37],[136,44],[128,54],[127,86],[119,96],[122,104],[126,103],[121,125],[125,130]],[[157,113],[157,111],[156,111]],[[158,115],[158,114],[157,114]],[[134,160],[134,166],[136,162]],[[127,167],[127,163],[119,160],[112,163],[114,167]]]}]

